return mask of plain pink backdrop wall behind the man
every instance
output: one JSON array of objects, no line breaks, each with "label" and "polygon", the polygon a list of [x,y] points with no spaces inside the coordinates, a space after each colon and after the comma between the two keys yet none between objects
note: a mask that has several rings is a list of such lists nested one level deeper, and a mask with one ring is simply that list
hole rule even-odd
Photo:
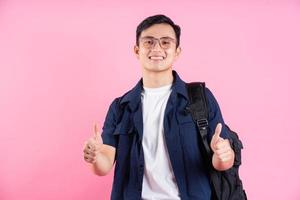
[{"label": "plain pink backdrop wall behind the man", "polygon": [[244,142],[249,199],[300,199],[300,3],[124,2],[0,1],[0,199],[109,199],[83,143],[140,78],[135,29],[158,13],[182,27],[174,68]]}]

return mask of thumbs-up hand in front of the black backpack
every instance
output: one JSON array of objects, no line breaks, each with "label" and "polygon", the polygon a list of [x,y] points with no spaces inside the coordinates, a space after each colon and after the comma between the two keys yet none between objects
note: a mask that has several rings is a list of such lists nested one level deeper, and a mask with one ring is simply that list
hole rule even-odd
[{"label": "thumbs-up hand in front of the black backpack", "polygon": [[216,161],[215,163],[213,163],[214,166],[220,165],[220,162],[222,164],[222,163],[228,163],[229,161],[230,161],[229,163],[233,164],[233,160],[234,160],[234,151],[230,146],[229,140],[223,139],[220,136],[221,131],[222,131],[222,124],[218,123],[215,133],[210,142],[210,147],[214,152],[213,160]]}]

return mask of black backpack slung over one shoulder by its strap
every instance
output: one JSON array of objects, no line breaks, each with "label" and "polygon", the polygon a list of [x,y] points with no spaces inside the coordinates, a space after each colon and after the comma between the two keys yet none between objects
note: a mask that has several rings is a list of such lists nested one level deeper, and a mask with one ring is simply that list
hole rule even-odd
[{"label": "black backpack slung over one shoulder by its strap", "polygon": [[207,141],[208,127],[208,109],[205,95],[205,83],[193,82],[187,83],[187,91],[189,94],[189,106],[187,107],[191,113],[193,120],[197,124],[198,131],[202,138],[200,147],[206,166],[208,166],[210,183],[212,188],[212,200],[247,200],[242,181],[239,177],[239,166],[241,165],[241,149],[242,142],[239,140],[237,133],[229,130],[229,141],[235,152],[235,160],[233,167],[226,171],[217,171],[212,166],[212,150]]}]

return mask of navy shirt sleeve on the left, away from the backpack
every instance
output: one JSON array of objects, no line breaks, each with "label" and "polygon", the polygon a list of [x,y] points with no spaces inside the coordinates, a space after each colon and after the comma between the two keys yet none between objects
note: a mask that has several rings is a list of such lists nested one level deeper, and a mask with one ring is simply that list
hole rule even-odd
[{"label": "navy shirt sleeve on the left, away from the backpack", "polygon": [[116,147],[117,144],[116,138],[114,136],[114,132],[116,129],[117,102],[118,99],[116,98],[109,106],[101,134],[103,144],[107,144],[113,147]]}]

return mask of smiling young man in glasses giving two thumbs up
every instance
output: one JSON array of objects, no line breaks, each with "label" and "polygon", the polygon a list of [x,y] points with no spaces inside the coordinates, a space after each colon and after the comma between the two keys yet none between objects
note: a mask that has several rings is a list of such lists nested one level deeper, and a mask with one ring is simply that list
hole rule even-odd
[{"label": "smiling young man in glasses giving two thumbs up", "polygon": [[[113,200],[211,198],[199,133],[186,112],[185,82],[172,70],[180,52],[180,27],[170,18],[151,16],[137,27],[134,53],[142,79],[112,102],[102,138],[95,127],[84,146],[95,174],[106,175],[116,163]],[[234,151],[216,99],[207,88],[206,95],[212,165],[227,170]]]}]

